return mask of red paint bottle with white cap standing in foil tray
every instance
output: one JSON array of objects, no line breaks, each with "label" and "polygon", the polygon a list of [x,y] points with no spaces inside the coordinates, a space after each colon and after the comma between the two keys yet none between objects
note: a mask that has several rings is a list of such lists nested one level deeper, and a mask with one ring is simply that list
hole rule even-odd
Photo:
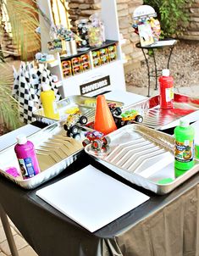
[{"label": "red paint bottle with white cap standing in foil tray", "polygon": [[169,70],[163,70],[159,77],[160,108],[172,109],[174,107],[174,79]]}]

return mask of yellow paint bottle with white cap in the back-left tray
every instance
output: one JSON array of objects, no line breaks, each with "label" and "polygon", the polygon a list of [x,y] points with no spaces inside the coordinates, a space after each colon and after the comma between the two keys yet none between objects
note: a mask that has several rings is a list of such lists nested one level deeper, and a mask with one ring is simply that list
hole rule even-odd
[{"label": "yellow paint bottle with white cap in the back-left tray", "polygon": [[40,97],[45,116],[53,120],[59,120],[58,108],[53,90],[51,90],[51,87],[47,84],[42,84],[41,88],[42,92]]}]

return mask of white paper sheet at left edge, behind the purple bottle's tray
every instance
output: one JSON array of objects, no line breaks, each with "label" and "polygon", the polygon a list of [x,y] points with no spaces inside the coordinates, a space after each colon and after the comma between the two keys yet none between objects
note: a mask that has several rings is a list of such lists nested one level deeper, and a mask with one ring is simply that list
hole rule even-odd
[{"label": "white paper sheet at left edge, behind the purple bottle's tray", "polygon": [[26,136],[30,136],[31,134],[35,133],[36,131],[40,131],[41,129],[36,127],[35,125],[25,125],[16,129],[14,131],[10,131],[7,134],[0,136],[0,151],[6,147],[9,147],[15,144],[16,136],[19,134],[25,134]]}]

